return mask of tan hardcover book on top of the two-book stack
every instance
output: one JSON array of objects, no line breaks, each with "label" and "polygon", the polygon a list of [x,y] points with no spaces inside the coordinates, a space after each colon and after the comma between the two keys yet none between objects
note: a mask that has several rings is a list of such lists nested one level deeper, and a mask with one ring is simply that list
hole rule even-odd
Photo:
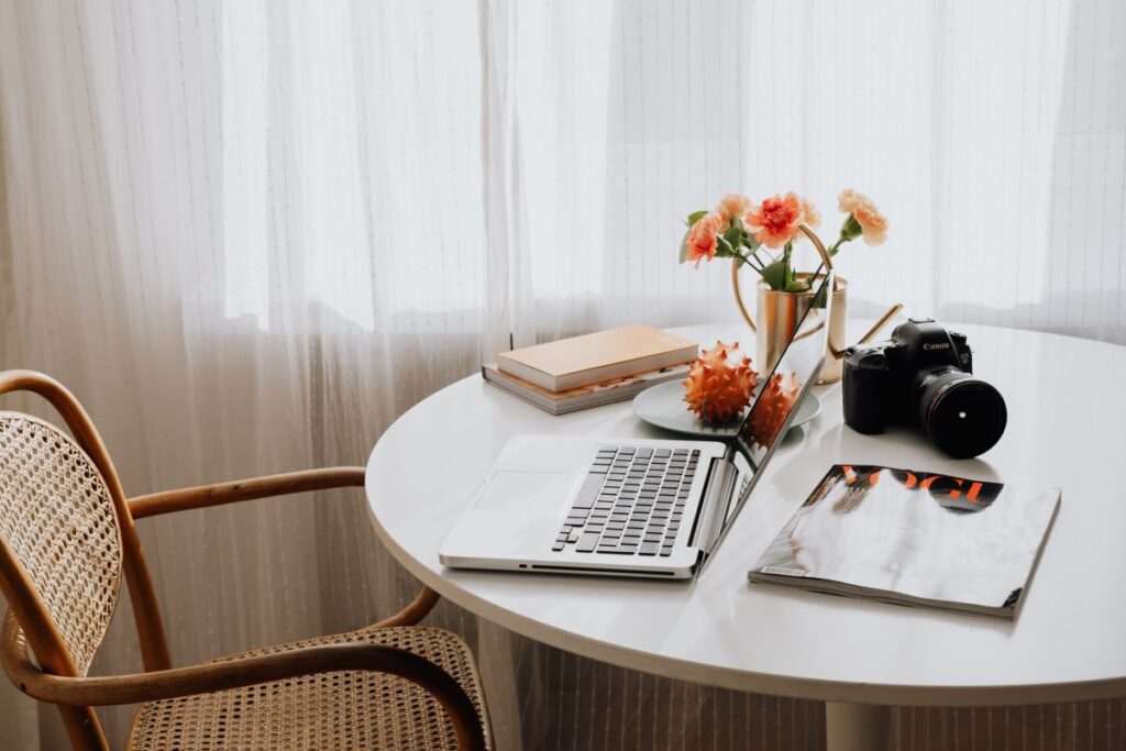
[{"label": "tan hardcover book on top of the two-book stack", "polygon": [[688,363],[697,349],[660,329],[627,325],[502,352],[497,367],[557,392]]}]

